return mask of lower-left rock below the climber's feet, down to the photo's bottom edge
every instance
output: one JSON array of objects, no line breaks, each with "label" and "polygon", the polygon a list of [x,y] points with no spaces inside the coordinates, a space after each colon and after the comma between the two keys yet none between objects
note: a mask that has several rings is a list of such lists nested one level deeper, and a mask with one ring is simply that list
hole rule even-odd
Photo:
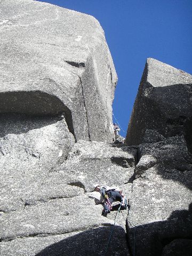
[{"label": "lower-left rock below the climber's feet, down to the photo's bottom edge", "polygon": [[[101,208],[84,195],[4,214],[0,255],[103,255],[113,221],[101,217]],[[113,242],[110,255],[129,255],[125,232],[118,223]]]}]

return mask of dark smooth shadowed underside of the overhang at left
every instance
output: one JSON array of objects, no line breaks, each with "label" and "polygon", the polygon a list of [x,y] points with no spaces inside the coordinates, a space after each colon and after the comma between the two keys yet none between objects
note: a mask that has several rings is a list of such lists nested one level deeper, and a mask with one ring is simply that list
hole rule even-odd
[{"label": "dark smooth shadowed underside of the overhang at left", "polygon": [[11,91],[0,93],[0,114],[25,114],[29,116],[63,115],[69,131],[74,135],[70,109],[55,95],[42,91]]}]

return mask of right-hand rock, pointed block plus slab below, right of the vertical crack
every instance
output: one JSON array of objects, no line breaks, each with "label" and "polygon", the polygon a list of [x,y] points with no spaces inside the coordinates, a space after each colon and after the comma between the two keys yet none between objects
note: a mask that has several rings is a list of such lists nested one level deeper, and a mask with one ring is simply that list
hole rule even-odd
[{"label": "right-hand rock, pointed block plus slab below, right of the vertical crack", "polygon": [[191,78],[147,60],[126,137],[138,145],[127,218],[135,256],[191,254]]}]

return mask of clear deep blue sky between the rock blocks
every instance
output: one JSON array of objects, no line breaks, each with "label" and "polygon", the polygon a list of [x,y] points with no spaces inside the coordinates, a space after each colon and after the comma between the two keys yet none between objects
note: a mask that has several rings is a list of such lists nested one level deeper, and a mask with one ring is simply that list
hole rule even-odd
[{"label": "clear deep blue sky between the rock blocks", "polygon": [[[113,111],[125,132],[147,58],[192,74],[192,0],[39,2],[87,13],[99,20],[118,75]],[[121,135],[126,134],[121,131]]]}]

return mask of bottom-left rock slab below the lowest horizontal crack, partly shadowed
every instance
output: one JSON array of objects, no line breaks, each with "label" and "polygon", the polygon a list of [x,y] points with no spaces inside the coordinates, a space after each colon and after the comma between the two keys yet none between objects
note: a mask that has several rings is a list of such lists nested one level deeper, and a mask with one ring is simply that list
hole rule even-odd
[{"label": "bottom-left rock slab below the lowest horizontal crack, partly shadowed", "polygon": [[[82,232],[46,237],[30,237],[15,239],[0,244],[2,254],[18,256],[72,256],[72,255],[104,255],[111,227],[99,227]],[[108,246],[107,256],[129,256],[125,243],[125,232],[115,227],[113,239]],[[118,253],[118,254],[117,254]]]}]

